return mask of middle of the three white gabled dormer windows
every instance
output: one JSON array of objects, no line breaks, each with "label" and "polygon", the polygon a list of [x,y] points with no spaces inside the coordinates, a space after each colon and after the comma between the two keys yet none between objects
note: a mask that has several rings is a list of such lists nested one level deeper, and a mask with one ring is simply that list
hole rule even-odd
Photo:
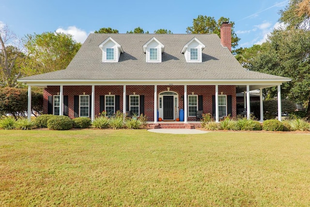
[{"label": "middle of the three white gabled dormer windows", "polygon": [[161,63],[161,56],[165,46],[161,44],[155,37],[150,39],[143,45],[145,60],[147,63]]}]

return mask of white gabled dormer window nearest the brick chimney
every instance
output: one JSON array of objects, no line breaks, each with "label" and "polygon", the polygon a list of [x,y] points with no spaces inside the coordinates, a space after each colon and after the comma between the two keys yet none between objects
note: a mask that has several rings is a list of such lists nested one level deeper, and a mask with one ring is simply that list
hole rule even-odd
[{"label": "white gabled dormer window nearest the brick chimney", "polygon": [[202,44],[196,37],[191,39],[182,48],[181,53],[184,54],[187,63],[202,63],[202,50],[205,45]]}]

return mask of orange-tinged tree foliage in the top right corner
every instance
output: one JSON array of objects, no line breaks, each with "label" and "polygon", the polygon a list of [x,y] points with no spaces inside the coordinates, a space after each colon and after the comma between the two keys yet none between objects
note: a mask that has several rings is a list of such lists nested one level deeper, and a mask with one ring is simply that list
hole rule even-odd
[{"label": "orange-tinged tree foliage in the top right corner", "polygon": [[279,22],[287,25],[288,29],[310,30],[310,0],[290,0],[279,14]]}]

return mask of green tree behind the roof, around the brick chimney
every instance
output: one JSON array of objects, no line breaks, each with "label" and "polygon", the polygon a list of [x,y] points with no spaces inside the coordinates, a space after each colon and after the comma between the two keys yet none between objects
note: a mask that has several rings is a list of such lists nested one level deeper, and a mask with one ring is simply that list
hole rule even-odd
[{"label": "green tree behind the roof, around the brick chimney", "polygon": [[240,38],[237,37],[233,30],[234,22],[223,16],[216,21],[214,17],[199,15],[197,18],[193,19],[193,26],[186,28],[186,32],[193,34],[215,33],[220,37],[220,27],[224,22],[232,24],[232,48],[235,48],[238,46]]}]

